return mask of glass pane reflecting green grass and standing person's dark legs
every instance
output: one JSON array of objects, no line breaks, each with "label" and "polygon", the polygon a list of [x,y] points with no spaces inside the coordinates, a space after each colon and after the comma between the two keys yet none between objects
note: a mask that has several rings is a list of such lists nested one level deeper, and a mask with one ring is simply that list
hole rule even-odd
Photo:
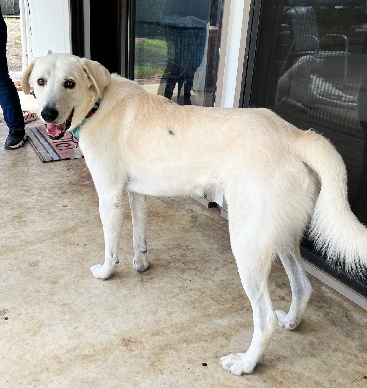
[{"label": "glass pane reflecting green grass and standing person's dark legs", "polygon": [[135,81],[181,105],[212,106],[221,0],[140,0]]}]

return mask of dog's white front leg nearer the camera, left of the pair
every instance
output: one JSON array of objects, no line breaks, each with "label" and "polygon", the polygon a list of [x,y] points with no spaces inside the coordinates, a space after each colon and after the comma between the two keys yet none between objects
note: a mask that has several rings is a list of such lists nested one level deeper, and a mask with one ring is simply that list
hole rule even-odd
[{"label": "dog's white front leg nearer the camera, left of the pair", "polygon": [[104,265],[97,264],[90,267],[93,276],[97,279],[106,280],[111,277],[119,263],[117,251],[123,210],[121,201],[116,201],[109,196],[99,198],[99,214],[103,225],[106,253]]}]

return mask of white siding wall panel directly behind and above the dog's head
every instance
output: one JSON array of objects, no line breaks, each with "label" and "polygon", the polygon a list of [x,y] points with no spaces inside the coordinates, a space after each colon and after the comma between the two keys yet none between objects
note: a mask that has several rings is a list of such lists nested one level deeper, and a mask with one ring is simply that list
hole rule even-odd
[{"label": "white siding wall panel directly behind and above the dog's head", "polygon": [[27,36],[22,36],[22,40],[27,42],[25,49],[28,54],[28,63],[34,57],[47,55],[48,50],[53,53],[71,53],[69,0],[21,1],[24,5],[23,17],[27,27]]}]

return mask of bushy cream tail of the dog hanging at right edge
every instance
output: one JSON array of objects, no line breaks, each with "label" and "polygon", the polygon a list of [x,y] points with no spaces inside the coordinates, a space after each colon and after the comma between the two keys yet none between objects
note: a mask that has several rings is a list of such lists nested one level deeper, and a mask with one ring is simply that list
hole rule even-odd
[{"label": "bushy cream tail of the dog hanging at right edge", "polygon": [[310,236],[329,260],[348,273],[363,276],[367,267],[367,228],[348,203],[346,168],[340,154],[322,135],[298,132],[296,153],[319,175],[321,190],[310,223]]}]

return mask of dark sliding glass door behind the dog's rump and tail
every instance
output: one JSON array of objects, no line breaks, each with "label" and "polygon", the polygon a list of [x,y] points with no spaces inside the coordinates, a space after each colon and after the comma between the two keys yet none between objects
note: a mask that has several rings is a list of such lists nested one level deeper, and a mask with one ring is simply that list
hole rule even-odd
[{"label": "dark sliding glass door behind the dog's rump and tail", "polygon": [[[324,134],[346,164],[352,211],[367,223],[367,2],[259,1],[243,105],[269,107]],[[303,255],[367,294],[365,283],[328,265],[312,242]]]}]

